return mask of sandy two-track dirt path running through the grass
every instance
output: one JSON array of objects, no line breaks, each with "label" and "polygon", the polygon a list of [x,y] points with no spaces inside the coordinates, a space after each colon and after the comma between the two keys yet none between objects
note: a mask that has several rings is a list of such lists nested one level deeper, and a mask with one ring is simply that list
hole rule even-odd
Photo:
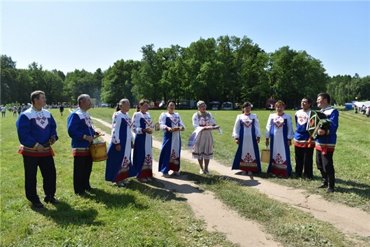
[{"label": "sandy two-track dirt path running through the grass", "polygon": [[[111,127],[111,124],[106,121],[93,117],[92,119]],[[110,143],[108,133],[105,139]],[[161,146],[160,141],[153,140],[154,148],[160,149]],[[181,158],[197,164],[197,161],[191,158],[191,153],[188,150],[182,150]],[[162,174],[156,172],[158,162],[154,163],[153,166],[153,173],[156,178],[161,180],[166,189],[182,193],[182,196],[188,200],[188,204],[192,207],[196,217],[205,220],[209,231],[215,228],[217,231],[225,233],[230,241],[240,244],[240,246],[278,246],[277,243],[271,240],[270,236],[260,231],[256,222],[241,219],[234,211],[230,211],[222,202],[214,198],[209,191],[199,191],[197,185],[184,180],[183,177],[180,177],[180,179],[172,176],[171,178],[163,178]],[[210,172],[212,170],[223,174],[223,176],[239,179],[245,185],[258,189],[270,198],[312,213],[317,219],[330,222],[343,233],[356,233],[362,237],[370,235],[370,215],[360,209],[328,202],[317,195],[306,196],[303,190],[277,185],[263,178],[255,179],[253,176],[242,176],[238,171],[232,171],[230,167],[225,167],[215,160],[210,162]],[[210,203],[211,201],[212,203]]]}]

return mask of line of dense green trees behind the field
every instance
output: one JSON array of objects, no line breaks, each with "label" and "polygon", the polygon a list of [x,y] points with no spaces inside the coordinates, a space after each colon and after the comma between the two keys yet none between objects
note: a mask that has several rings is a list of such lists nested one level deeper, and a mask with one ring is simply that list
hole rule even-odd
[{"label": "line of dense green trees behind the field", "polygon": [[135,104],[140,99],[160,102],[168,99],[206,103],[249,101],[264,107],[266,99],[283,100],[299,106],[302,97],[316,99],[328,92],[332,102],[370,100],[370,75],[336,75],[330,78],[320,60],[306,51],[288,46],[267,53],[244,36],[200,38],[189,47],[171,45],[141,48],[143,58],[117,60],[102,71],[84,69],[64,73],[47,71],[37,62],[28,69],[16,69],[10,56],[1,55],[1,104],[29,102],[32,91],[42,90],[48,104],[76,104],[87,93],[97,102],[115,105],[123,97]]}]

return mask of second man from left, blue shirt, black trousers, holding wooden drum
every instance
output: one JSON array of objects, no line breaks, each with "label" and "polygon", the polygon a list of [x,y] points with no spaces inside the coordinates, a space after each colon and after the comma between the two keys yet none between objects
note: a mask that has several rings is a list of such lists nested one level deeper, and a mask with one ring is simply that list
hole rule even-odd
[{"label": "second man from left, blue shirt, black trousers, holding wooden drum", "polygon": [[90,186],[90,174],[93,169],[93,157],[90,152],[90,143],[94,140],[95,132],[93,121],[87,110],[90,109],[91,99],[89,95],[82,94],[77,98],[78,108],[69,115],[67,128],[73,152],[73,187],[75,194],[86,195],[86,190],[93,189]]}]

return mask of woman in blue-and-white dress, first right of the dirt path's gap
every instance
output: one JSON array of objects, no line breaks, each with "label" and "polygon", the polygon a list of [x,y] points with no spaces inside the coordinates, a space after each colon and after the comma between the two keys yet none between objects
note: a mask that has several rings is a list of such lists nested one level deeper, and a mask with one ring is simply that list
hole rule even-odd
[{"label": "woman in blue-and-white dress, first right of the dirt path's gap", "polygon": [[256,114],[251,113],[251,103],[243,104],[243,114],[236,116],[232,138],[238,144],[232,169],[242,170],[242,175],[251,176],[252,172],[261,171],[260,154],[260,122]]}]

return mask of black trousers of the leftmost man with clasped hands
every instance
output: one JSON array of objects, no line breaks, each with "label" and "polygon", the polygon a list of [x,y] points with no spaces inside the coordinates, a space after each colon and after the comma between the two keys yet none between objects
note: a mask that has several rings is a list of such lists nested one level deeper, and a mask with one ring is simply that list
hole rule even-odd
[{"label": "black trousers of the leftmost man with clasped hands", "polygon": [[23,155],[25,167],[25,194],[31,202],[40,200],[36,192],[37,167],[40,167],[42,175],[42,187],[45,196],[54,196],[56,193],[56,165],[53,156],[32,157]]}]

